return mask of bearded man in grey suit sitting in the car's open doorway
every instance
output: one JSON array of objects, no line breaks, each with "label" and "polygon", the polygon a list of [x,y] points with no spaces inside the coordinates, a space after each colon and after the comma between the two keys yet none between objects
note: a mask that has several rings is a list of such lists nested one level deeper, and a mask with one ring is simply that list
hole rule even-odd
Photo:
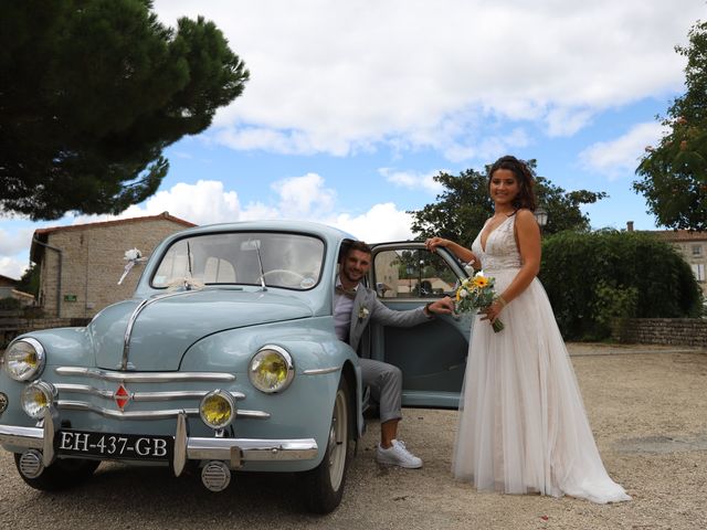
[{"label": "bearded man in grey suit sitting in the car's open doorway", "polygon": [[[394,311],[386,307],[372,289],[361,280],[371,267],[371,248],[361,241],[354,241],[344,248],[339,276],[334,295],[334,322],[337,337],[358,350],[363,330],[370,320],[384,326],[411,327],[426,322],[433,314],[451,314],[454,305],[449,297],[429,303],[408,311]],[[381,464],[415,469],[422,460],[398,441],[398,423],[402,418],[402,373],[398,367],[373,359],[360,359],[363,386],[371,389],[379,403],[380,444],[376,459]]]}]

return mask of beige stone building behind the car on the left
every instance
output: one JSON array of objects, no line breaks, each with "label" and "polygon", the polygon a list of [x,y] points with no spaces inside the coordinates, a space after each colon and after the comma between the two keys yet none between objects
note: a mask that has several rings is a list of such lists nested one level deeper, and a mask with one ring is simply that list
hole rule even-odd
[{"label": "beige stone building behind the car on the left", "polygon": [[133,296],[143,265],[118,285],[126,251],[138,248],[147,257],[166,236],[191,226],[196,225],[163,212],[36,230],[30,258],[40,266],[40,306],[49,317],[92,318]]}]

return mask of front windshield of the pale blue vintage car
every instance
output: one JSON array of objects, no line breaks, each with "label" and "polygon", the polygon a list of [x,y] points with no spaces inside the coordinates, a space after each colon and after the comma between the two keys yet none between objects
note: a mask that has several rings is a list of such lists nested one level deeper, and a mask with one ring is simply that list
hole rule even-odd
[{"label": "front windshield of the pale blue vintage car", "polygon": [[[324,242],[302,234],[238,232],[176,241],[152,276],[152,287],[180,285],[262,285],[306,290],[317,285]],[[262,264],[262,265],[261,265]]]}]

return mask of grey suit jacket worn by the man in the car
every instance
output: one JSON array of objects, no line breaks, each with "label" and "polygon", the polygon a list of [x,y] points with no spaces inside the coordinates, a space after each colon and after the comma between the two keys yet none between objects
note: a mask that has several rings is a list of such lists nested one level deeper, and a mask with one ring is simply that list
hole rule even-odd
[{"label": "grey suit jacket worn by the man in the car", "polygon": [[373,289],[367,289],[361,284],[356,289],[356,298],[354,298],[354,306],[351,307],[349,344],[354,350],[358,350],[361,336],[371,320],[376,320],[383,326],[409,328],[426,322],[430,318],[424,314],[424,308],[422,307],[408,311],[393,311],[378,299]]}]

